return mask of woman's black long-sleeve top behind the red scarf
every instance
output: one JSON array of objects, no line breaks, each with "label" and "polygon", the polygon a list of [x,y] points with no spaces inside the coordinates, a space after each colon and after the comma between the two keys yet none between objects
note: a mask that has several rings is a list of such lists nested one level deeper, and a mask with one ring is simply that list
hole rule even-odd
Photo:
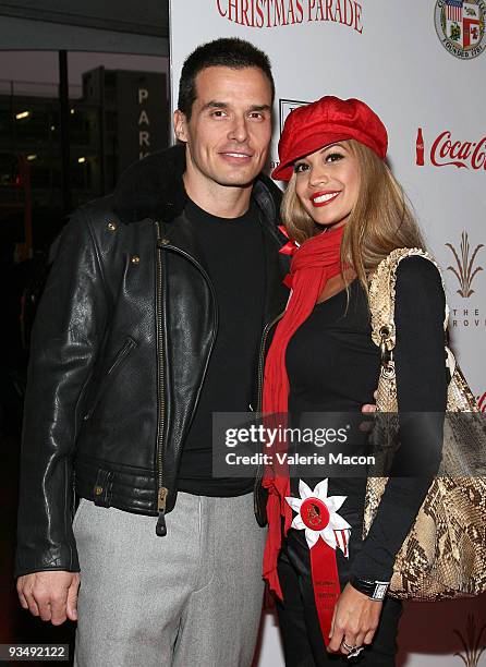
[{"label": "woman's black long-sleeve top behind the red scarf", "polygon": [[[447,372],[444,333],[445,295],[437,268],[422,257],[403,259],[397,271],[394,362],[400,413],[444,413]],[[374,403],[378,385],[379,350],[372,341],[366,294],[359,280],[315,306],[289,342],[287,369],[290,380],[289,412],[360,413]],[[400,433],[404,452],[428,452],[440,459],[440,429],[428,428],[426,416]],[[423,426],[423,427],[422,427]],[[417,441],[420,438],[420,441]],[[411,474],[410,472],[408,473]],[[413,474],[413,473],[412,473]],[[353,542],[360,542],[351,563],[354,575],[387,581],[403,539],[430,485],[432,476],[390,477],[366,539],[361,543],[366,478],[330,478],[329,495],[345,495],[341,516],[352,525]],[[295,489],[296,481],[291,487]]]}]

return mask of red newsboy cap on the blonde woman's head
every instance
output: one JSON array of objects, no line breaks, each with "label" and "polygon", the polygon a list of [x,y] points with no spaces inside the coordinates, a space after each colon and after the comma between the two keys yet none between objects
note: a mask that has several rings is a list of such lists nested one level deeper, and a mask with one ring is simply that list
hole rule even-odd
[{"label": "red newsboy cap on the blonde woman's head", "polygon": [[279,141],[280,165],[271,177],[290,181],[293,162],[329,144],[354,138],[385,159],[387,130],[378,116],[359,99],[339,99],[332,95],[297,107],[287,117]]}]

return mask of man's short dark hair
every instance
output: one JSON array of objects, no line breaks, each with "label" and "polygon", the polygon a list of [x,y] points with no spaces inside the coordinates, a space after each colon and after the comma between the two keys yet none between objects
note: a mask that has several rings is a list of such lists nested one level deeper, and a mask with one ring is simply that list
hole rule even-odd
[{"label": "man's short dark hair", "polygon": [[222,37],[197,47],[184,61],[179,82],[178,108],[187,120],[191,120],[193,104],[197,97],[196,76],[203,70],[214,66],[232,70],[258,68],[268,78],[274,104],[275,83],[268,56],[250,41],[238,37]]}]

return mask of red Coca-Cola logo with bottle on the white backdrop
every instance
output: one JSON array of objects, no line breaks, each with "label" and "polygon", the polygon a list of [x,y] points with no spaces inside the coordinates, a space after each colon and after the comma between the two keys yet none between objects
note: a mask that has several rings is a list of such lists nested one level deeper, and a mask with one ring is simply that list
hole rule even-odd
[{"label": "red Coca-Cola logo with bottle on the white backdrop", "polygon": [[[422,128],[416,138],[416,165],[423,166],[425,141]],[[483,169],[486,171],[486,135],[476,142],[461,142],[449,130],[441,132],[430,146],[430,165],[434,167],[457,167],[458,169]]]}]

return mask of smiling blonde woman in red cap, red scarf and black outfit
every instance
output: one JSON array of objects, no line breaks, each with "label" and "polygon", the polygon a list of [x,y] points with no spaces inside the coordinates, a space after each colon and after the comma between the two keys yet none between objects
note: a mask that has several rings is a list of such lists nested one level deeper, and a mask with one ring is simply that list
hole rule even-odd
[{"label": "smiling blonde woman in red cap, red scarf and black outfit", "polygon": [[[374,402],[380,357],[370,336],[369,278],[394,248],[424,248],[386,165],[387,144],[378,116],[356,99],[324,97],[287,119],[272,175],[288,181],[282,218],[300,247],[292,259],[291,299],[267,356],[264,412],[289,413],[299,422],[315,412],[359,414],[362,404]],[[446,409],[444,310],[436,267],[423,257],[403,259],[394,349],[401,413]],[[425,452],[426,470],[434,470],[439,430],[418,441],[416,430],[412,437],[402,429],[401,450]],[[343,658],[394,665],[401,604],[387,590],[394,557],[430,484],[421,473],[390,478],[364,541],[365,476],[316,473],[301,480],[267,473],[264,575],[280,598],[287,665]]]}]

